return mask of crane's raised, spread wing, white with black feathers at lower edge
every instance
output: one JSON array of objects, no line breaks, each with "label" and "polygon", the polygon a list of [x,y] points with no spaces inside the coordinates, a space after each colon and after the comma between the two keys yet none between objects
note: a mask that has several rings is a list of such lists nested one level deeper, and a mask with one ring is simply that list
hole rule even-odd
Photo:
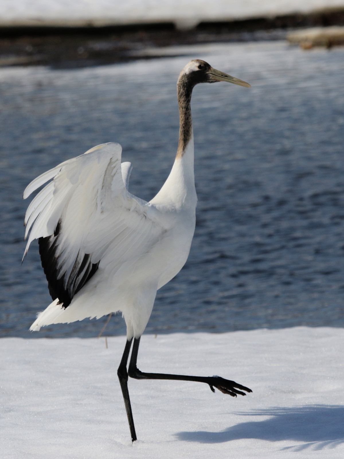
[{"label": "crane's raised, spread wing, white with black feathers at lower edge", "polygon": [[165,232],[148,216],[150,204],[128,192],[131,164],[121,167],[121,153],[116,143],[96,146],[40,175],[24,191],[25,199],[53,179],[28,207],[24,257],[38,239],[50,295],[64,308],[102,259],[114,273]]}]

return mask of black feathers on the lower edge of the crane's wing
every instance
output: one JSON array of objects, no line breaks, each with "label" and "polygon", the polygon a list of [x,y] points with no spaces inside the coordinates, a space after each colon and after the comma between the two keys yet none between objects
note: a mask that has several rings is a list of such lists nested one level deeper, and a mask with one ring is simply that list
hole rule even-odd
[{"label": "black feathers on the lower edge of the crane's wing", "polygon": [[91,263],[91,255],[88,253],[86,253],[83,258],[78,254],[67,283],[65,283],[65,274],[63,274],[60,279],[57,279],[58,256],[56,256],[56,249],[59,245],[58,239],[60,228],[61,224],[59,222],[56,226],[54,235],[40,237],[38,244],[42,267],[48,281],[50,296],[53,300],[58,298],[58,304],[63,303],[63,307],[67,308],[74,295],[78,293],[83,285],[85,285],[97,271],[99,262]]}]

